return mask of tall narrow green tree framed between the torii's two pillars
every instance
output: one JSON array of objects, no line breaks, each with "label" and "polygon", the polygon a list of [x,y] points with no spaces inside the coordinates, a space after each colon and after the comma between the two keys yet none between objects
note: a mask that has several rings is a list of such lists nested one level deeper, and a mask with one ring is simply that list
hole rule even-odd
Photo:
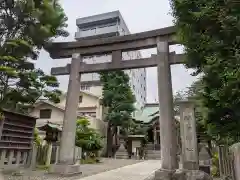
[{"label": "tall narrow green tree framed between the torii's two pillars", "polygon": [[116,150],[116,147],[113,147],[113,136],[115,145],[118,144],[118,127],[123,134],[127,134],[132,124],[135,96],[129,85],[129,77],[123,71],[103,72],[100,74],[100,80],[103,84],[102,104],[107,109],[107,153],[108,156],[112,156]]}]

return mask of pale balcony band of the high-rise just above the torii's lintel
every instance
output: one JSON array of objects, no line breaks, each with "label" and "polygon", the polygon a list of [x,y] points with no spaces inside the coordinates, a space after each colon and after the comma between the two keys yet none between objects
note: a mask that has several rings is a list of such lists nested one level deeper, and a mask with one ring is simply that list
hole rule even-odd
[{"label": "pale balcony band of the high-rise just above the torii's lintel", "polygon": [[120,32],[118,26],[108,26],[102,28],[94,28],[87,31],[78,31],[75,33],[75,39],[86,39],[86,38],[103,38],[111,36],[119,36]]}]

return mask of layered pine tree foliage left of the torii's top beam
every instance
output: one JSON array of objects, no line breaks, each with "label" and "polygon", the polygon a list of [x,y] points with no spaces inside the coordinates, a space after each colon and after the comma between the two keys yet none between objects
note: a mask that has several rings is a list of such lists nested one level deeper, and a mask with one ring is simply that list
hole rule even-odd
[{"label": "layered pine tree foliage left of the torii's top beam", "polygon": [[40,97],[58,102],[56,77],[36,69],[42,46],[53,37],[68,36],[67,18],[57,0],[0,2],[0,107],[15,110]]}]

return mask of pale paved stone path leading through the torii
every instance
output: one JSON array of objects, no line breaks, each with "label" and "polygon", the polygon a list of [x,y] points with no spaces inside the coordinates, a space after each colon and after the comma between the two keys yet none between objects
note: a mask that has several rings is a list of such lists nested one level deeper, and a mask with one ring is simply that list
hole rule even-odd
[{"label": "pale paved stone path leading through the torii", "polygon": [[160,168],[159,160],[148,160],[122,168],[102,172],[79,180],[147,180]]}]

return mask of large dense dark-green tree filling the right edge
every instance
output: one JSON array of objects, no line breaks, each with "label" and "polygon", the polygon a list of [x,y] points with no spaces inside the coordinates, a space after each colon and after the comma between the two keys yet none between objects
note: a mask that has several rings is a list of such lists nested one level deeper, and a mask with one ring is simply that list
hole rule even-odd
[{"label": "large dense dark-green tree filling the right edge", "polygon": [[200,98],[208,134],[236,141],[240,129],[240,3],[172,0],[187,67],[202,73]]}]

